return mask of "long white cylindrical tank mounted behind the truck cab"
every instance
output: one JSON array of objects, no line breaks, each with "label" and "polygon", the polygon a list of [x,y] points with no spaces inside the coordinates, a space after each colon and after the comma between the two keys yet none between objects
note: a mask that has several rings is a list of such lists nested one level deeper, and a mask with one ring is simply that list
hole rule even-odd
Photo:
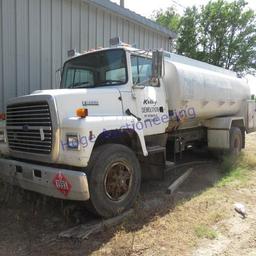
[{"label": "long white cylindrical tank mounted behind the truck cab", "polygon": [[236,73],[168,53],[163,84],[169,112],[197,120],[236,115],[250,99],[249,85]]}]

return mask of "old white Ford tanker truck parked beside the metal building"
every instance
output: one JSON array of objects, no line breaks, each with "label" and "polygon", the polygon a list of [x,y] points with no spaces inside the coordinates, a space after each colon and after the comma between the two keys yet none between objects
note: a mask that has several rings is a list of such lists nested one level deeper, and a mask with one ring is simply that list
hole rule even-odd
[{"label": "old white Ford tanker truck parked beside the metal building", "polygon": [[160,175],[169,154],[238,154],[256,127],[255,101],[235,73],[111,42],[69,51],[60,88],[9,100],[0,131],[2,180],[85,201],[106,218],[134,204],[142,174]]}]

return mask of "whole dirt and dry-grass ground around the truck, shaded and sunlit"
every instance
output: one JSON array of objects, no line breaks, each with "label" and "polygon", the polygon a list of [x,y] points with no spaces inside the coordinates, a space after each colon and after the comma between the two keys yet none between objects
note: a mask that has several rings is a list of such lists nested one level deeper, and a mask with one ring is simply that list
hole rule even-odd
[{"label": "whole dirt and dry-grass ground around the truck, shaded and sunlit", "polygon": [[[254,154],[256,135],[247,139]],[[0,255],[255,255],[256,173],[242,186],[216,187],[223,173],[215,161],[194,166],[177,193],[166,194],[187,168],[172,170],[164,181],[143,183],[131,217],[84,241],[57,238],[61,231],[95,221],[83,204],[0,184]],[[246,205],[248,218],[234,211],[235,202]],[[195,230],[201,226],[217,237],[199,239]]]}]

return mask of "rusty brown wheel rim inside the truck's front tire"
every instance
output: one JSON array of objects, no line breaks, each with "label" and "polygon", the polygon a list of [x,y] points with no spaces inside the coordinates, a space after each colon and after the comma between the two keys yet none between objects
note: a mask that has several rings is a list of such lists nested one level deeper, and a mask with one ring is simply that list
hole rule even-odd
[{"label": "rusty brown wheel rim inside the truck's front tire", "polygon": [[105,193],[113,201],[122,201],[129,194],[132,184],[132,170],[125,162],[115,162],[107,170]]}]

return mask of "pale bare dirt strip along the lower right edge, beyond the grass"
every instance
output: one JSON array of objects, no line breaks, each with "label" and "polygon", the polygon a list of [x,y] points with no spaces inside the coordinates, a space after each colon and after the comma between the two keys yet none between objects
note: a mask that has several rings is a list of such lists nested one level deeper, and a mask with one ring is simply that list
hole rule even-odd
[{"label": "pale bare dirt strip along the lower right edge, beyond the grass", "polygon": [[[242,186],[234,183],[230,189],[226,189],[228,197],[226,207],[229,209],[229,218],[219,222],[215,229],[219,236],[214,241],[202,240],[193,255],[256,255],[256,134],[250,134],[246,140],[244,152],[245,164],[250,168],[247,181]],[[242,202],[246,207],[245,219],[234,211],[234,202]],[[232,213],[232,214],[231,214]]]}]

